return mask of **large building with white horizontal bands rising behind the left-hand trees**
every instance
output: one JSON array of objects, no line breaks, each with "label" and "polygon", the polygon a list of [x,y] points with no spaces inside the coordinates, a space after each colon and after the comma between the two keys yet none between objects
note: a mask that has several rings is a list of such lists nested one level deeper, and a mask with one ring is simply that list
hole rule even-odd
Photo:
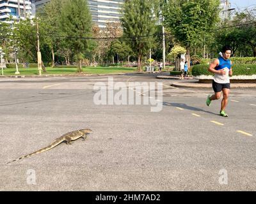
[{"label": "large building with white horizontal bands rising behind the left-hand trees", "polygon": [[[36,10],[51,0],[32,0]],[[99,27],[106,27],[106,22],[118,22],[120,10],[125,0],[87,0],[92,13],[92,21]]]}]

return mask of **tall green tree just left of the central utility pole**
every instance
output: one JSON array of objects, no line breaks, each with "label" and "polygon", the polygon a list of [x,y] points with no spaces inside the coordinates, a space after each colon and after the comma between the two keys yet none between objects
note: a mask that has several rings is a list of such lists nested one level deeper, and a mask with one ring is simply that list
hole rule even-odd
[{"label": "tall green tree just left of the central utility pole", "polygon": [[154,0],[131,0],[124,3],[122,27],[124,36],[132,41],[130,43],[132,51],[138,56],[138,71],[142,71],[143,55],[152,47],[154,41],[158,3]]}]

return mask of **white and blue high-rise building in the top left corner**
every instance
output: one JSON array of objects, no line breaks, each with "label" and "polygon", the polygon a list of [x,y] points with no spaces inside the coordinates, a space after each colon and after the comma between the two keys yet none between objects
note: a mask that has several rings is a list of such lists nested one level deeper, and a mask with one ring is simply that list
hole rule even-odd
[{"label": "white and blue high-rise building in the top left corner", "polygon": [[0,0],[0,21],[11,24],[13,20],[33,18],[32,4],[28,0]]}]

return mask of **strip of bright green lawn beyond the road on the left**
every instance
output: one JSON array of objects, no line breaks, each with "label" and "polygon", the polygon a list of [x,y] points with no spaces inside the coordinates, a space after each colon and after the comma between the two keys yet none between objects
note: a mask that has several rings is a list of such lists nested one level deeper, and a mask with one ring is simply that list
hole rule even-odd
[{"label": "strip of bright green lawn beyond the road on the left", "polygon": [[[83,67],[83,73],[88,74],[108,74],[108,73],[129,73],[136,71],[137,68],[122,67]],[[16,69],[4,69],[4,75],[15,75]],[[77,68],[46,68],[47,73],[42,71],[42,75],[61,75],[76,74]],[[20,75],[38,75],[37,68],[20,68]]]}]

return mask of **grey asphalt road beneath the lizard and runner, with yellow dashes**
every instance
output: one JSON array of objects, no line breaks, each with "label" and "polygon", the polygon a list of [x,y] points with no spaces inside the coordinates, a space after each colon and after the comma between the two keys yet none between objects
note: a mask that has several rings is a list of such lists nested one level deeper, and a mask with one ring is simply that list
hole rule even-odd
[{"label": "grey asphalt road beneath the lizard and runner, with yellow dashes", "polygon": [[[108,77],[0,79],[0,191],[256,190],[255,89],[232,90],[223,118],[221,101],[205,105],[209,89],[116,75],[127,86],[163,82],[163,109],[151,112],[95,105],[97,82]],[[6,164],[83,128],[93,130],[86,141]]]}]

